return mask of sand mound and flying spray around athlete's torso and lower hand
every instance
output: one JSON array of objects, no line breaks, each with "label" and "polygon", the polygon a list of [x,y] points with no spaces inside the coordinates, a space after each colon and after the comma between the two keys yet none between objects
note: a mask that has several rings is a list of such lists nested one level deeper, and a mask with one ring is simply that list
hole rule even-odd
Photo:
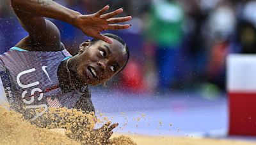
[{"label": "sand mound and flying spray around athlete's torso and lower hand", "polygon": [[[106,132],[95,132],[94,114],[84,114],[76,109],[51,108],[33,125],[22,115],[0,107],[0,144],[136,144],[121,135],[104,139]],[[58,130],[63,128],[64,134]]]}]

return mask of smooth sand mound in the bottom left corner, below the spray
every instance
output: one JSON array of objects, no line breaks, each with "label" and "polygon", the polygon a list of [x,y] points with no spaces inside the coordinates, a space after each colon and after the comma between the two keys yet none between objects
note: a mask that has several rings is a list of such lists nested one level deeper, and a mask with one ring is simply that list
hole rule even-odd
[{"label": "smooth sand mound in the bottom left corner, below the spray", "polygon": [[79,144],[65,135],[38,128],[21,114],[0,107],[0,144]]}]

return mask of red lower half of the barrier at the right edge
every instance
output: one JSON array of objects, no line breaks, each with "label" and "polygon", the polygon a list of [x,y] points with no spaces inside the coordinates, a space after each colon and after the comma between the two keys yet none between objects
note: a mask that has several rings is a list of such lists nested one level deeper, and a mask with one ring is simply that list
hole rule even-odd
[{"label": "red lower half of the barrier at the right edge", "polygon": [[256,92],[228,93],[229,134],[256,136]]}]

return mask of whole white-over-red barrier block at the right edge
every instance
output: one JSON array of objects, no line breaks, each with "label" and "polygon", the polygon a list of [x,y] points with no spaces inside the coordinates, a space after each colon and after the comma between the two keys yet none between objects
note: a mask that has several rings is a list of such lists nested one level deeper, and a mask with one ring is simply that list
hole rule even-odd
[{"label": "whole white-over-red barrier block at the right edge", "polygon": [[229,135],[256,136],[256,55],[227,59]]}]

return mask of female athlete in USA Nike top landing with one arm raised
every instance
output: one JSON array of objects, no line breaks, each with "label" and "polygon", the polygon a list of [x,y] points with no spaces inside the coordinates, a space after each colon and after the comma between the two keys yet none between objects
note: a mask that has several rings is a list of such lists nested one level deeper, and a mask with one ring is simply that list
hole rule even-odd
[{"label": "female athlete in USA Nike top landing with one arm raised", "polygon": [[[108,81],[129,59],[129,50],[121,38],[100,32],[128,29],[131,25],[118,23],[131,20],[131,16],[114,18],[123,9],[105,13],[108,5],[97,13],[82,15],[51,0],[11,2],[29,35],[0,56],[0,91],[5,92],[0,101],[8,102],[31,121],[40,118],[48,107],[94,111],[88,86]],[[61,43],[56,25],[44,17],[74,25],[93,39],[81,43],[80,51],[72,57]],[[32,116],[26,116],[28,112],[33,112]],[[111,135],[117,123],[107,126]]]}]

